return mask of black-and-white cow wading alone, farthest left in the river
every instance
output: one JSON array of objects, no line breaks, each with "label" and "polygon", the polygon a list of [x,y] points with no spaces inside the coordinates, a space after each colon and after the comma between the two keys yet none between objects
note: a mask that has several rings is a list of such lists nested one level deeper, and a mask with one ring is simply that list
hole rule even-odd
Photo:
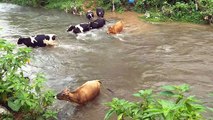
[{"label": "black-and-white cow wading alone, farthest left in the river", "polygon": [[25,44],[27,47],[45,47],[53,45],[54,42],[52,41],[54,40],[56,40],[55,34],[40,34],[30,37],[20,37],[17,44]]}]

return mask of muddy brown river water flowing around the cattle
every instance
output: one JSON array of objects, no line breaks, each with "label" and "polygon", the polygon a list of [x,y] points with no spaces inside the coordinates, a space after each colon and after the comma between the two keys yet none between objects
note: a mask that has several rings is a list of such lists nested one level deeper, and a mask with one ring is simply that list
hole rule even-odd
[{"label": "muddy brown river water flowing around the cattle", "polygon": [[[75,89],[87,80],[103,82],[101,94],[85,106],[57,101],[54,107],[60,111],[60,120],[103,120],[107,111],[103,104],[113,97],[136,100],[132,94],[138,90],[159,90],[162,85],[189,84],[190,93],[206,105],[213,103],[208,96],[213,91],[213,27],[151,24],[131,12],[107,13],[110,23],[104,28],[75,36],[66,29],[87,22],[84,16],[5,3],[0,3],[0,16],[0,37],[12,43],[21,35],[58,36],[59,46],[33,49],[30,65],[23,68],[26,75],[33,78],[35,73],[44,73],[47,88],[56,93],[65,87]],[[107,26],[119,19],[125,22],[124,31],[108,35]]]}]

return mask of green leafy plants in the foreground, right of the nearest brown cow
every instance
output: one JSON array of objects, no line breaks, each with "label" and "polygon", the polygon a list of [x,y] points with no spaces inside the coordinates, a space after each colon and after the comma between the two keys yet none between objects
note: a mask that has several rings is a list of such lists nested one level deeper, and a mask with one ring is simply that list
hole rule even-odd
[{"label": "green leafy plants in the foreground, right of the nearest brown cow", "polygon": [[205,107],[194,96],[187,96],[189,86],[163,86],[163,91],[154,95],[151,89],[133,94],[139,102],[113,98],[106,103],[110,109],[105,115],[108,120],[114,113],[118,120],[202,120]]}]

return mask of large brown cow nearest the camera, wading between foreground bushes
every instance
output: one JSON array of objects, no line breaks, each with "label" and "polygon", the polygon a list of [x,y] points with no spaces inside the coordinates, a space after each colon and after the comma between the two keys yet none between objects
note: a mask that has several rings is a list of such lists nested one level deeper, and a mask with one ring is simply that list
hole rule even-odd
[{"label": "large brown cow nearest the camera, wading between foreground bushes", "polygon": [[59,100],[66,100],[78,104],[85,104],[93,100],[100,93],[100,80],[91,80],[84,83],[82,86],[71,92],[69,89],[64,89],[57,94]]}]

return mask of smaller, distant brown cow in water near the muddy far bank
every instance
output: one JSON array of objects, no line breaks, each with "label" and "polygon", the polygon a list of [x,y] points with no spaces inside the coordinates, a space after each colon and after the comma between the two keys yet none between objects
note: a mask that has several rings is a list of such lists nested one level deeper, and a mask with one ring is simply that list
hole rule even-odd
[{"label": "smaller, distant brown cow in water near the muddy far bank", "polygon": [[108,28],[107,33],[108,34],[109,33],[112,33],[112,34],[120,33],[123,30],[123,26],[124,26],[123,22],[122,21],[118,21],[118,22],[115,23],[115,25],[110,26]]}]

